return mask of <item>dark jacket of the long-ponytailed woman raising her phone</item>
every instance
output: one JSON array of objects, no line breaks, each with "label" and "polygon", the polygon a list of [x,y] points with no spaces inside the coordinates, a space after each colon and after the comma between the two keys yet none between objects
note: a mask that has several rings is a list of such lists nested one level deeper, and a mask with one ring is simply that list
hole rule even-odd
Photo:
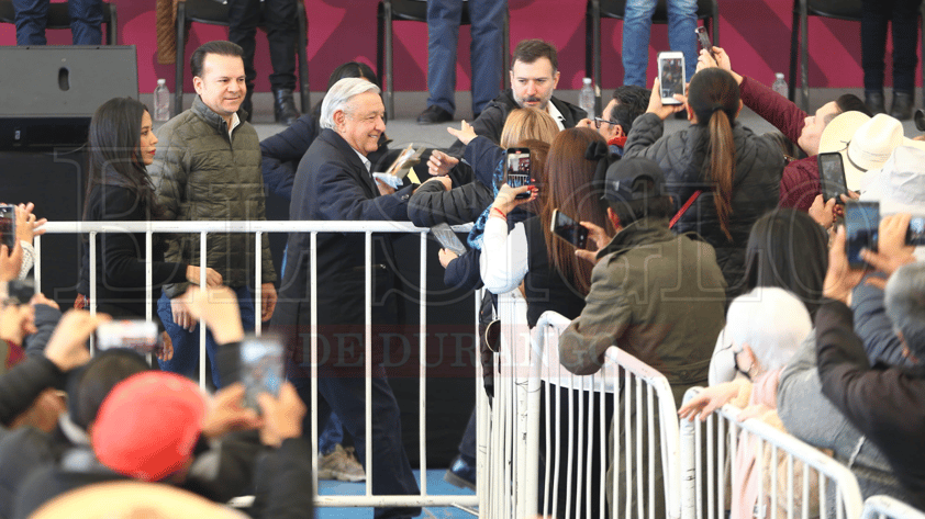
[{"label": "dark jacket of the long-ponytailed woman raising her phone", "polygon": [[676,234],[698,233],[716,249],[716,262],[726,279],[727,294],[740,291],[745,274],[745,246],[751,226],[768,211],[777,207],[783,155],[769,137],[759,137],[742,124],[733,124],[736,170],[733,176],[732,214],[728,219],[733,239],[726,238],[716,216],[712,182],[703,177],[709,129],[691,125],[680,132],[662,136],[664,122],[655,114],[643,114],[633,123],[626,139],[624,158],[646,157],[665,171],[668,192],[675,208],[681,206],[696,190],[703,193],[681,216],[672,229]]}]

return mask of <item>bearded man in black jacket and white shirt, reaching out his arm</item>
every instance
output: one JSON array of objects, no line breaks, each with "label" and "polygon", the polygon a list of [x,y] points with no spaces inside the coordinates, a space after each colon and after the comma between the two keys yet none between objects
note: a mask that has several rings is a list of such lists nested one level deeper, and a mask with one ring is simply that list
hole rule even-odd
[{"label": "bearded man in black jacket and white shirt, reaching out his arm", "polygon": [[[514,48],[511,59],[511,88],[501,92],[482,110],[481,115],[472,122],[472,131],[499,144],[508,115],[512,110],[523,108],[547,111],[559,129],[573,128],[588,114],[553,97],[558,83],[559,60],[556,47],[542,40],[524,40]],[[431,174],[447,174],[459,163],[465,149],[466,145],[457,140],[447,153],[434,150],[427,161]],[[462,184],[472,179],[471,168],[455,168],[454,183]]]}]

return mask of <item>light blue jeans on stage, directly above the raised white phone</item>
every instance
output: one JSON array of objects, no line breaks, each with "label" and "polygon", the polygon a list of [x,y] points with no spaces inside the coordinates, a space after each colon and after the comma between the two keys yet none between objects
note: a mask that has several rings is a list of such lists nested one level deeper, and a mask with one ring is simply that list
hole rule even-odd
[{"label": "light blue jeans on stage, directly above the raised white phone", "polygon": [[[646,79],[649,65],[649,32],[656,0],[627,0],[623,19],[623,84],[651,87]],[[696,69],[696,0],[668,0],[668,44],[684,53],[684,78]]]}]

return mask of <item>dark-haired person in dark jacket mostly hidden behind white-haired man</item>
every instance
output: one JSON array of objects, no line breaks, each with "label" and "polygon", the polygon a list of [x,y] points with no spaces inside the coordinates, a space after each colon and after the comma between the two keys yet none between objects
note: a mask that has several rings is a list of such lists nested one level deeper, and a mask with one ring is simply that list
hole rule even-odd
[{"label": "dark-haired person in dark jacket mostly hidden behind white-haired man", "polygon": [[[364,78],[371,83],[379,84],[376,72],[364,63],[347,61],[331,72],[327,79],[327,89],[344,78]],[[321,101],[315,104],[311,113],[299,117],[291,126],[282,132],[271,135],[260,142],[260,154],[263,156],[261,170],[264,173],[264,185],[267,194],[282,196],[287,201],[292,200],[292,182],[296,179],[296,169],[302,156],[309,150],[315,137],[321,133],[319,119],[321,116]],[[379,137],[379,149],[369,154],[374,171],[376,165],[383,161],[389,154],[389,139],[386,134]]]}]

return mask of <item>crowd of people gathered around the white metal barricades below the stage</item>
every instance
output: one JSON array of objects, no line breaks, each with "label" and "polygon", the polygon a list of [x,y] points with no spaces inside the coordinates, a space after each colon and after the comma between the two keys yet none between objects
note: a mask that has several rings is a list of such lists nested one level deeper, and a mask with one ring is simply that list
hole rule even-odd
[{"label": "crowd of people gathered around the white metal barricades below the stage", "polygon": [[[472,124],[448,128],[458,140],[430,151],[419,168],[424,182],[392,184],[372,174],[398,153],[388,147],[369,67],[338,67],[314,111],[259,143],[241,112],[246,53],[210,42],[191,58],[192,108],[156,132],[147,109],[131,99],[96,112],[83,219],[260,221],[265,193],[274,192],[290,201],[293,221],[471,223],[468,250],[441,250],[438,260],[447,285],[487,289],[483,324],[497,295],[520,291],[531,328],[546,312],[571,319],[558,345],[569,371],[599,371],[615,346],[664,373],[678,403],[688,388],[710,386],[679,410],[682,417],[737,403],[744,417],[831,449],[858,474],[865,495],[925,508],[925,263],[905,242],[910,213],[925,207],[925,149],[902,135],[899,121],[873,115],[854,95],[809,115],[734,72],[724,49],[714,53],[701,54],[679,104],[662,104],[657,81],[651,90],[625,86],[600,117],[588,117],[555,95],[556,48],[520,42],[512,87]],[[780,134],[744,126],[744,105]],[[681,112],[690,124],[666,134],[664,120]],[[508,149],[530,151],[531,183],[506,181]],[[831,200],[816,166],[823,151],[850,165],[851,191]],[[861,252],[862,270],[848,266],[842,225],[857,198],[879,202],[883,215],[879,247]],[[215,503],[252,494],[252,517],[311,517],[314,439],[303,421],[315,381],[322,454],[350,458],[337,444],[346,433],[354,463],[372,460],[374,495],[420,493],[378,332],[403,319],[392,304],[391,236],[376,236],[370,251],[371,329],[363,237],[342,233],[290,234],[278,277],[266,236],[258,248],[250,234],[210,234],[200,258],[198,234],[155,235],[147,250],[144,235],[100,233],[97,263],[82,258],[77,309],[62,315],[41,294],[18,296],[44,224],[33,211],[16,206],[14,245],[0,246],[0,275],[9,282],[0,309],[0,517],[27,517],[70,490],[89,494],[91,485],[126,488],[122,479],[167,483]],[[555,233],[556,211],[587,229],[587,244]],[[257,269],[263,284],[254,286]],[[145,318],[147,297],[163,337],[159,370],[132,350],[91,359],[86,340],[93,330],[112,317]],[[244,405],[239,373],[241,342],[261,326],[257,301],[260,320],[285,345],[287,379],[278,395],[259,396],[259,413]],[[205,362],[197,358],[200,319],[211,396],[189,381]],[[371,359],[360,353],[365,339]],[[312,366],[314,343],[337,343],[352,358],[324,356]],[[372,364],[371,381],[364,362]],[[831,419],[823,428],[807,416]],[[766,462],[755,449],[739,454],[743,474]],[[447,481],[475,487],[475,458],[473,414]],[[365,466],[341,462],[327,470],[364,478]],[[610,500],[629,498],[624,478],[613,476],[622,470],[608,467]],[[744,477],[731,517],[751,517],[760,485]],[[597,506],[597,483],[580,490],[594,493]],[[665,503],[656,501],[664,514]],[[570,514],[565,499],[559,505],[555,515]],[[380,507],[375,517],[420,514]]]}]

